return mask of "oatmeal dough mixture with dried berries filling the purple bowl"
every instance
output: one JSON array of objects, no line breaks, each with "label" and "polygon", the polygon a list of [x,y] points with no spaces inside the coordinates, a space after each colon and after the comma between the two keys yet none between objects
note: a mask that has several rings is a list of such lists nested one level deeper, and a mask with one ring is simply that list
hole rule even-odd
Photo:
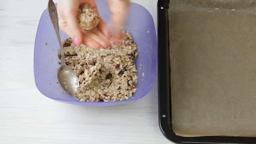
[{"label": "oatmeal dough mixture with dried berries filling the purple bowl", "polygon": [[[134,59],[137,46],[130,33],[112,49],[91,49],[84,45],[75,47],[72,39],[62,42],[66,64],[79,78],[79,88],[74,96],[80,101],[127,100],[137,90],[137,69]],[[58,54],[60,59],[60,54]]]}]

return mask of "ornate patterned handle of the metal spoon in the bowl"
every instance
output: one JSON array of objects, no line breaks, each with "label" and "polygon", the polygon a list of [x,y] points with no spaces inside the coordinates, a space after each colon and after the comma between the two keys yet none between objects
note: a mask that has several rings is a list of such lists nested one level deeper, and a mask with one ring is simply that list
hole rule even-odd
[{"label": "ornate patterned handle of the metal spoon in the bowl", "polygon": [[64,52],[62,49],[61,41],[60,41],[60,35],[59,35],[59,24],[58,24],[58,14],[57,14],[57,9],[55,7],[55,4],[52,0],[49,0],[48,2],[48,13],[51,18],[51,21],[53,23],[56,35],[58,37],[58,42],[59,42],[59,47],[60,47],[60,53],[61,53],[61,64],[65,64],[65,57],[64,57]]}]

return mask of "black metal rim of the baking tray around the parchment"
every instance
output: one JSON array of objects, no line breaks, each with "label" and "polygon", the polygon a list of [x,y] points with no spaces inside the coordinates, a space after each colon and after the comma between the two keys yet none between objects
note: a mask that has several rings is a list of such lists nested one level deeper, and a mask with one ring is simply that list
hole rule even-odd
[{"label": "black metal rim of the baking tray around the parchment", "polygon": [[158,0],[158,97],[159,126],[167,139],[175,143],[199,144],[255,144],[253,137],[234,136],[178,136],[172,129],[170,56],[169,56],[169,0]]}]

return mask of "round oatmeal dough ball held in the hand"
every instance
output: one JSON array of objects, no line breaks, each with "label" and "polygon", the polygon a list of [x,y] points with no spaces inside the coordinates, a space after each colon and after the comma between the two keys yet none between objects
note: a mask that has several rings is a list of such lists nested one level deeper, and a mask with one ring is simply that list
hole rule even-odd
[{"label": "round oatmeal dough ball held in the hand", "polygon": [[100,16],[89,4],[84,4],[78,10],[78,21],[81,29],[92,30],[99,24]]}]

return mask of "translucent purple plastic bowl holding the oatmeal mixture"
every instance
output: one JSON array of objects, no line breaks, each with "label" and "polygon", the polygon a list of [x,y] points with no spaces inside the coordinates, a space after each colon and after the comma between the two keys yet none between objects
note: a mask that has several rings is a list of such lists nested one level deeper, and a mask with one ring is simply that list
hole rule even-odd
[{"label": "translucent purple plastic bowl holding the oatmeal mixture", "polygon": [[[105,0],[96,0],[100,16],[105,22],[110,19],[110,13]],[[138,46],[138,58],[135,60],[138,69],[137,91],[124,101],[116,102],[81,102],[68,95],[57,83],[59,49],[54,28],[46,9],[39,21],[34,47],[34,78],[38,90],[48,98],[86,106],[114,106],[141,99],[152,89],[156,77],[157,42],[154,21],[151,14],[141,5],[131,3],[125,31],[129,31]],[[68,38],[60,32],[61,40]],[[141,67],[141,69],[140,69]],[[140,76],[143,75],[144,76]]]}]

